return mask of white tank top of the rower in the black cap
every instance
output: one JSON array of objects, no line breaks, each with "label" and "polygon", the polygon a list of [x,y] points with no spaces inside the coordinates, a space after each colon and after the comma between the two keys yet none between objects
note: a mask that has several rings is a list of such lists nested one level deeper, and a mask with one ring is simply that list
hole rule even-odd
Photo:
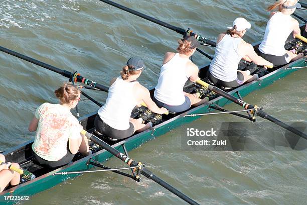
[{"label": "white tank top of the rower in the black cap", "polygon": [[155,98],[170,105],[182,105],[186,98],[183,92],[185,83],[190,76],[186,74],[186,64],[190,59],[181,58],[179,53],[161,67],[158,84],[155,90]]}]

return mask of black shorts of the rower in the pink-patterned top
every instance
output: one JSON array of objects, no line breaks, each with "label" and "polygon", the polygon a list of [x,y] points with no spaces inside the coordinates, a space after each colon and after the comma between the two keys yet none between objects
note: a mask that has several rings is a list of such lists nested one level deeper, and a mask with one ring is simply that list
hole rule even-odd
[{"label": "black shorts of the rower in the pink-patterned top", "polygon": [[38,156],[33,150],[32,150],[32,154],[35,158],[35,160],[42,166],[47,167],[47,168],[57,168],[57,167],[61,167],[64,166],[66,164],[68,164],[69,162],[71,162],[74,158],[74,154],[72,154],[69,150],[69,143],[67,143],[67,154],[62,157],[62,159],[58,160],[58,161],[47,161],[43,158],[41,158],[40,156]]}]

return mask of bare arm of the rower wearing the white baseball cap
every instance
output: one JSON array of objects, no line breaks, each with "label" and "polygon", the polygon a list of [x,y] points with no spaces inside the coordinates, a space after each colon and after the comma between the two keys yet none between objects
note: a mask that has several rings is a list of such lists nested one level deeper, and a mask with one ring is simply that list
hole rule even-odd
[{"label": "bare arm of the rower wearing the white baseball cap", "polygon": [[252,45],[242,41],[239,46],[239,51],[242,56],[246,56],[248,59],[253,61],[257,65],[264,65],[264,66],[273,66],[273,64],[264,58],[257,55]]}]

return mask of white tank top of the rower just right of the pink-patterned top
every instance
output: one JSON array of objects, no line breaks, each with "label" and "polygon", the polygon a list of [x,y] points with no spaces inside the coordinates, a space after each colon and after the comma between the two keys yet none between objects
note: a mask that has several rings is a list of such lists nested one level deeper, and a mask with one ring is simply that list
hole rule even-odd
[{"label": "white tank top of the rower just right of the pink-patterned top", "polygon": [[137,101],[133,95],[133,87],[138,83],[126,82],[120,76],[109,88],[105,105],[98,110],[101,120],[116,130],[127,130],[130,116]]}]

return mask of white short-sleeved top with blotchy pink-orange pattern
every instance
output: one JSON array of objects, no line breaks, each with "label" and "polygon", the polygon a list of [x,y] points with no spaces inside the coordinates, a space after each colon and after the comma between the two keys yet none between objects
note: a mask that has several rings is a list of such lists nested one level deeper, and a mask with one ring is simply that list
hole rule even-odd
[{"label": "white short-sleeved top with blotchy pink-orange pattern", "polygon": [[68,139],[81,137],[79,121],[59,104],[44,103],[35,117],[39,123],[32,149],[45,160],[60,160],[67,154]]}]

